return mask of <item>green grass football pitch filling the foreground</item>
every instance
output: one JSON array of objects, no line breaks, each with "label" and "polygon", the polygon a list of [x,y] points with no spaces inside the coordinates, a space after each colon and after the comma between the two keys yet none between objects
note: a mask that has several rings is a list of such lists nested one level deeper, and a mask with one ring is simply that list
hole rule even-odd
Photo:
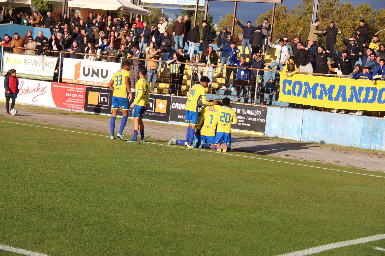
[{"label": "green grass football pitch filling the foreground", "polygon": [[[384,178],[4,122],[0,133],[0,244],[49,255],[273,256],[385,233]],[[317,255],[383,255],[374,246],[385,240]]]}]

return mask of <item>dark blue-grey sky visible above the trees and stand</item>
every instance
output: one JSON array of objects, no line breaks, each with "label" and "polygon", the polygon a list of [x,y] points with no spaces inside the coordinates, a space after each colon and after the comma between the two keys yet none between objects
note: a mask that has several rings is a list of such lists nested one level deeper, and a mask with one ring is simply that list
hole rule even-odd
[{"label": "dark blue-grey sky visible above the trees and stand", "polygon": [[[295,7],[298,2],[302,1],[293,1],[293,0],[283,0],[283,3],[288,6],[288,9]],[[360,5],[361,3],[366,3],[362,0],[352,0],[352,1],[341,1],[340,3],[344,2],[352,2],[353,6]],[[367,1],[372,8],[374,9],[382,9],[385,8],[385,1],[384,0],[369,0]],[[238,2],[238,8],[237,8],[237,17],[241,18],[244,22],[250,20],[251,23],[254,24],[254,21],[256,18],[258,18],[259,14],[266,13],[268,10],[273,8],[273,3],[244,3],[244,2]],[[258,10],[258,11],[256,11]],[[170,18],[175,18],[174,12],[176,10],[166,10],[164,9],[163,12],[167,13]],[[216,24],[219,23],[220,17],[225,16],[227,13],[233,13],[234,12],[234,2],[225,2],[225,1],[210,1],[209,2],[209,13],[214,14],[214,22]],[[180,12],[178,12],[181,14]],[[269,17],[271,18],[271,17]]]}]

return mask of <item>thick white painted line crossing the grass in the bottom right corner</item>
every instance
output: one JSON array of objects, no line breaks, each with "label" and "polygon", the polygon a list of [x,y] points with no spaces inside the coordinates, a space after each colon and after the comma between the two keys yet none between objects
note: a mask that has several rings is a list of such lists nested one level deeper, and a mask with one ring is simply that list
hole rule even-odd
[{"label": "thick white painted line crossing the grass in the bottom right corner", "polygon": [[[381,240],[381,239],[385,239],[385,234],[378,234],[375,236],[367,236],[367,237],[358,238],[358,239],[349,240],[349,241],[343,241],[343,242],[339,242],[339,243],[326,244],[326,245],[322,245],[322,246],[309,248],[309,249],[306,249],[303,251],[295,251],[293,253],[285,253],[285,254],[281,254],[278,256],[305,256],[305,255],[320,253],[322,251],[341,248],[341,247],[350,246],[350,245],[354,245],[354,244],[368,243],[368,242],[377,241],[377,240]],[[375,249],[377,249],[377,248],[375,248]],[[383,250],[385,251],[385,249],[383,249]]]}]

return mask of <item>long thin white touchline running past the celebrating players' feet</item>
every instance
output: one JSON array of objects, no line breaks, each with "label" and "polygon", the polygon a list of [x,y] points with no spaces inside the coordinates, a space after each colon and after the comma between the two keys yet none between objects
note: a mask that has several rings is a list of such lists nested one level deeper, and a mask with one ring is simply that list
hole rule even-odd
[{"label": "long thin white touchline running past the celebrating players' feet", "polygon": [[[23,123],[14,123],[14,122],[7,122],[7,121],[0,121],[0,122],[3,122],[3,123],[13,123],[13,124],[16,124],[16,125],[27,125],[27,124],[23,124]],[[99,134],[93,134],[93,133],[84,133],[84,132],[80,132],[80,131],[70,131],[70,130],[51,128],[51,127],[44,127],[44,126],[38,126],[38,125],[27,125],[27,126],[46,128],[46,129],[52,129],[52,130],[59,130],[59,131],[69,131],[69,132],[72,132],[72,133],[82,133],[82,134],[102,136],[102,137],[110,137],[110,136],[106,136],[106,135],[99,135]],[[160,145],[160,146],[169,146],[169,147],[175,147],[175,148],[182,148],[182,149],[187,149],[187,150],[198,150],[197,148],[193,149],[193,148],[186,148],[186,147],[183,147],[183,146],[164,145],[164,144],[159,144],[159,143],[154,143],[154,142],[146,142],[146,143]],[[277,162],[277,163],[286,163],[286,164],[290,164],[290,165],[300,165],[300,166],[311,167],[311,168],[318,168],[318,169],[323,169],[323,170],[341,171],[341,172],[344,172],[344,173],[353,173],[353,174],[359,174],[359,175],[365,175],[365,176],[385,178],[385,176],[370,175],[370,174],[365,174],[365,173],[355,173],[355,172],[352,172],[352,171],[342,171],[342,170],[336,170],[336,169],[324,168],[324,167],[318,167],[318,166],[311,166],[311,165],[302,165],[302,164],[298,164],[298,163],[290,163],[290,162],[285,162],[285,161],[264,159],[264,158],[254,157],[254,156],[241,156],[241,155],[235,155],[235,154],[218,152],[218,151],[214,151],[214,150],[212,150],[212,151],[210,151],[210,150],[200,150],[200,151],[208,152],[208,153],[218,153],[218,154],[224,154],[224,155],[230,155],[230,156],[239,156],[239,157],[253,158],[253,159],[264,160],[264,161],[271,161],[271,162]]]}]

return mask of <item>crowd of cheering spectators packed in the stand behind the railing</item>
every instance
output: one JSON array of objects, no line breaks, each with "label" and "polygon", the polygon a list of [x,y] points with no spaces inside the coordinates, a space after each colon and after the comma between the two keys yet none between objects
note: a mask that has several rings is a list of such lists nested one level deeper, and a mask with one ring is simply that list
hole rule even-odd
[{"label": "crowd of cheering spectators packed in the stand behind the railing", "polygon": [[[283,70],[286,76],[298,72],[308,75],[336,74],[355,79],[372,79],[373,83],[385,77],[385,44],[380,42],[377,35],[373,37],[372,42],[368,42],[368,26],[365,20],[360,21],[355,35],[343,39],[346,50],[339,55],[334,51],[334,45],[341,30],[336,28],[334,22],[330,22],[328,28],[321,31],[318,30],[320,20],[315,20],[310,26],[307,42],[301,42],[297,37],[293,45],[290,45],[288,38],[271,41],[271,24],[268,18],[264,18],[261,25],[256,27],[253,27],[250,21],[246,22],[246,25],[240,23],[237,18],[235,21],[243,29],[242,53],[226,26],[216,34],[218,52],[215,52],[213,46],[209,45],[214,39],[211,24],[204,20],[191,29],[192,23],[187,15],[179,16],[171,28],[168,27],[168,20],[163,17],[158,24],[151,25],[141,22],[139,17],[128,20],[126,15],[102,18],[97,13],[95,15],[89,13],[89,17],[80,18],[79,14],[75,13],[70,20],[67,13],[63,13],[56,21],[50,12],[43,18],[38,12],[28,15],[23,12],[14,14],[9,10],[7,15],[4,12],[0,14],[0,23],[49,28],[51,35],[47,38],[42,31],[39,31],[33,38],[32,30],[28,30],[27,34],[22,36],[15,32],[13,38],[10,35],[0,38],[0,44],[13,48],[15,53],[47,54],[47,51],[81,53],[82,55],[69,55],[69,57],[107,62],[119,62],[119,58],[127,58],[132,63],[131,85],[136,84],[139,68],[146,66],[152,92],[157,75],[163,66],[162,72],[171,73],[168,90],[171,95],[182,93],[181,86],[186,69],[184,63],[192,63],[192,80],[199,82],[203,73],[209,77],[211,92],[216,66],[220,65],[217,77],[225,78],[221,89],[236,90],[238,101],[241,99],[241,93],[244,100],[254,99],[254,94],[257,93],[255,98],[263,103],[264,85],[277,81],[275,72],[271,71],[273,68]],[[326,37],[326,45],[317,45],[319,38],[323,36]],[[186,44],[188,50],[184,52]],[[202,45],[201,55],[195,52],[197,44],[199,47]],[[246,62],[246,47],[250,53],[248,62]],[[263,57],[267,53],[267,48],[276,50],[276,60],[270,65]],[[359,58],[362,64],[355,65]],[[226,73],[223,75],[225,64]],[[257,73],[256,70],[246,69],[264,69],[266,66],[270,70],[267,75],[264,75],[263,71]]]}]

